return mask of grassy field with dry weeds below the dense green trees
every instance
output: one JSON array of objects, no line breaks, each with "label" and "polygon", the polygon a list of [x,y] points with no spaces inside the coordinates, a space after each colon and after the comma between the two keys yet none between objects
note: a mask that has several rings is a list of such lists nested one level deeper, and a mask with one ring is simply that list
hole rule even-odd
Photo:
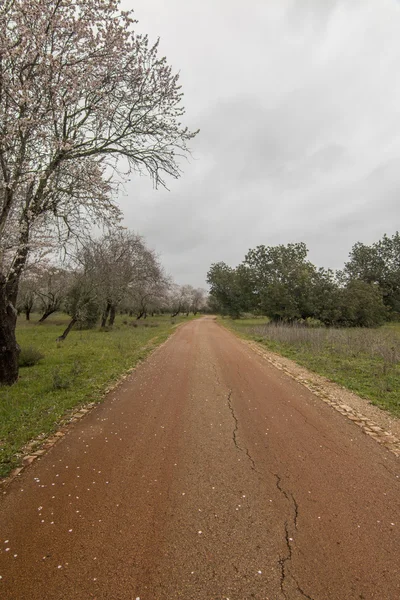
[{"label": "grassy field with dry weeds below the dense green trees", "polygon": [[400,324],[328,329],[223,319],[224,325],[400,416]]}]

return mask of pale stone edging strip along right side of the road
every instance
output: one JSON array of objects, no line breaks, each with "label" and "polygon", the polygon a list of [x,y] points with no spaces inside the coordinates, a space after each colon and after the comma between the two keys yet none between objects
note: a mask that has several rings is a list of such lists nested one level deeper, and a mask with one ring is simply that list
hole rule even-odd
[{"label": "pale stone edging strip along right side of the road", "polygon": [[275,368],[301,383],[323,402],[361,427],[366,435],[385,446],[395,456],[400,456],[400,419],[289,358],[267,350],[257,342],[243,341]]}]

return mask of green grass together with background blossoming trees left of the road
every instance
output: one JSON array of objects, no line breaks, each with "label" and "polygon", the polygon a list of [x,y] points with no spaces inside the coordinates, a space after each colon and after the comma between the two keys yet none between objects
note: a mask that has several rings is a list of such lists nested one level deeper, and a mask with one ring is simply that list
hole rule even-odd
[{"label": "green grass together with background blossoming trees left of the road", "polygon": [[68,261],[28,263],[16,302],[19,377],[0,386],[0,477],[19,465],[27,442],[99,401],[110,382],[205,305],[204,290],[175,284],[128,230],[88,237]]}]

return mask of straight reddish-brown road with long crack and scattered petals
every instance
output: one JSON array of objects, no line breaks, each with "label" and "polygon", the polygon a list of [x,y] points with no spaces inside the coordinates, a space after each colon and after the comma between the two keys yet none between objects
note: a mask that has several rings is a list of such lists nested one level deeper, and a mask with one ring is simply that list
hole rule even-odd
[{"label": "straight reddish-brown road with long crack and scattered petals", "polygon": [[398,600],[399,472],[193,321],[6,489],[0,597]]}]

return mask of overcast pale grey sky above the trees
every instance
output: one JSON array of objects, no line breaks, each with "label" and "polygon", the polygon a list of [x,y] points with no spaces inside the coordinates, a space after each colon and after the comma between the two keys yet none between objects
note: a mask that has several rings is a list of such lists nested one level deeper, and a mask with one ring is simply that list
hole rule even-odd
[{"label": "overcast pale grey sky above the trees", "polygon": [[340,268],[356,241],[400,228],[398,0],[125,0],[181,74],[201,132],[170,191],[121,193],[180,283],[212,262],[304,241]]}]

